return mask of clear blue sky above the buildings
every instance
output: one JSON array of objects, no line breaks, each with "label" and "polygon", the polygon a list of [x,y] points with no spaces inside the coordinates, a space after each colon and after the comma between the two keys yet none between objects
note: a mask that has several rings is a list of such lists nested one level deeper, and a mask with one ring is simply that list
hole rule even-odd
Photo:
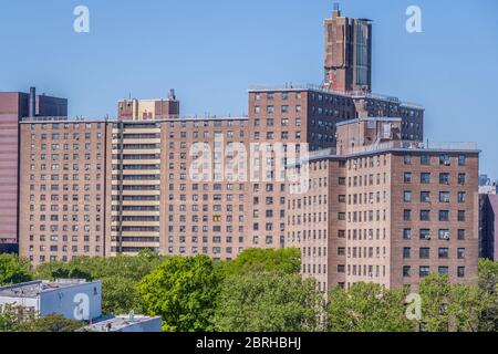
[{"label": "clear blue sky above the buildings", "polygon": [[[252,84],[320,83],[331,0],[1,0],[0,91],[70,100],[70,115],[177,90],[185,115],[247,113]],[[374,20],[373,90],[426,107],[426,138],[476,140],[498,178],[498,1],[343,0]],[[90,9],[90,33],[73,9]],[[405,10],[422,9],[423,33]]]}]

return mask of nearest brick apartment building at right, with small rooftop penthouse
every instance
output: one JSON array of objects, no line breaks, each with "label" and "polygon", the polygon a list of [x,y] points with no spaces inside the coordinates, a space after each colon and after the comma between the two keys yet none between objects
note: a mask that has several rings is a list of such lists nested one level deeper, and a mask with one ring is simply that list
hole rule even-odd
[{"label": "nearest brick apartment building at right, with small rooftop penthouse", "polygon": [[398,118],[340,123],[336,149],[293,167],[311,178],[287,201],[287,244],[323,290],[416,285],[429,273],[477,281],[479,152],[405,142],[401,131]]}]

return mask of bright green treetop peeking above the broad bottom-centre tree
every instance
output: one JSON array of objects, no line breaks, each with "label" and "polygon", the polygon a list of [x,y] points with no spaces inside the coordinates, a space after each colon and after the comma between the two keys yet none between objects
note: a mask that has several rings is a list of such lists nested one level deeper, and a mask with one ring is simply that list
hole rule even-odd
[{"label": "bright green treetop peeking above the broad bottom-centre tree", "polygon": [[271,271],[299,273],[301,251],[297,248],[246,249],[235,260],[224,262],[221,268],[226,275]]}]

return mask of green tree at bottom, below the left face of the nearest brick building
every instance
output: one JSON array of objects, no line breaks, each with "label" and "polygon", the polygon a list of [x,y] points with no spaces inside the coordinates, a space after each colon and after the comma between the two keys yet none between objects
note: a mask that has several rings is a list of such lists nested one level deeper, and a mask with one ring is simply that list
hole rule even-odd
[{"label": "green tree at bottom, below the left face of the nearest brick building", "polygon": [[349,290],[329,293],[330,332],[411,332],[414,322],[405,315],[405,290],[390,290],[376,283],[359,282]]}]

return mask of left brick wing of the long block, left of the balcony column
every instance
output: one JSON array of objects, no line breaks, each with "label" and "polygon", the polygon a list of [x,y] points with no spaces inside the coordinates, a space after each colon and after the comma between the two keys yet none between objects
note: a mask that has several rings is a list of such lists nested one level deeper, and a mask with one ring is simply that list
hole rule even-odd
[{"label": "left brick wing of the long block, left of the balcony column", "polygon": [[33,264],[105,256],[110,126],[64,117],[20,126],[20,254]]}]

